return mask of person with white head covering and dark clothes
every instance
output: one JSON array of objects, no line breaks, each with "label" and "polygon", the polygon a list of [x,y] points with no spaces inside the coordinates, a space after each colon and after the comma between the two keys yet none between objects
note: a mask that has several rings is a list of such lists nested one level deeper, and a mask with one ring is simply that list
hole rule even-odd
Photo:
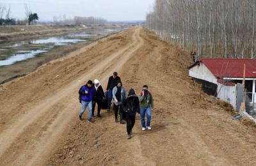
[{"label": "person with white head covering and dark clothes", "polygon": [[97,103],[97,105],[98,105],[97,117],[101,117],[100,109],[101,109],[102,102],[105,98],[105,94],[102,89],[102,86],[100,85],[99,80],[97,80],[97,79],[94,80],[94,88],[95,88],[95,95],[94,95],[93,102],[92,102],[92,116],[94,116],[95,105]]}]

